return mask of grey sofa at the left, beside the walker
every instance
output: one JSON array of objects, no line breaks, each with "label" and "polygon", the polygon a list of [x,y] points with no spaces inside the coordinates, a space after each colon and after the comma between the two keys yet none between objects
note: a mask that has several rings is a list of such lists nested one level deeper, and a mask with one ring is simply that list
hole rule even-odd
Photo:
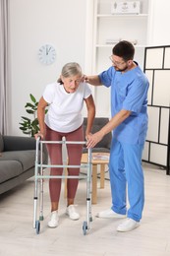
[{"label": "grey sofa at the left, beside the walker", "polygon": [[[43,161],[47,163],[43,149]],[[35,139],[0,134],[0,194],[20,185],[34,175]]]}]

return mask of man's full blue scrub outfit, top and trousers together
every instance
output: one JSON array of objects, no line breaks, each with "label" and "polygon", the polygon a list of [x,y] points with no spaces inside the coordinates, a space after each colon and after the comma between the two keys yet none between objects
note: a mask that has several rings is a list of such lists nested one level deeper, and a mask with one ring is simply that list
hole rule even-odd
[{"label": "man's full blue scrub outfit, top and trousers together", "polygon": [[109,161],[112,210],[140,222],[144,204],[142,149],[147,131],[148,80],[139,65],[125,73],[110,67],[99,78],[104,86],[111,87],[112,117],[122,109],[132,111],[113,130]]}]

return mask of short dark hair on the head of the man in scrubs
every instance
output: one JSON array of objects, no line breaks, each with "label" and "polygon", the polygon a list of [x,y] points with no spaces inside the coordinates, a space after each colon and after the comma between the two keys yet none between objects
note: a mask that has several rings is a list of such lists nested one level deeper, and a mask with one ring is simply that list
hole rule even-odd
[{"label": "short dark hair on the head of the man in scrubs", "polygon": [[113,55],[122,57],[125,61],[133,60],[135,47],[130,41],[119,41],[112,49]]}]

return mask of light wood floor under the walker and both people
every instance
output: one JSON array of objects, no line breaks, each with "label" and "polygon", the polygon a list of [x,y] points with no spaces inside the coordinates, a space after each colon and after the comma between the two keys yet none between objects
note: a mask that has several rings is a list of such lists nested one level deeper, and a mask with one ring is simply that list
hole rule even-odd
[{"label": "light wood floor under the walker and both people", "polygon": [[33,178],[22,186],[0,196],[0,255],[2,256],[169,256],[170,255],[170,176],[155,166],[143,164],[145,206],[139,228],[120,233],[121,220],[95,218],[98,211],[111,205],[109,180],[97,191],[92,205],[90,230],[83,234],[86,219],[85,180],[80,180],[76,204],[79,221],[65,215],[64,187],[61,193],[60,224],[47,227],[50,216],[48,180],[44,181],[44,221],[40,233],[32,228]]}]

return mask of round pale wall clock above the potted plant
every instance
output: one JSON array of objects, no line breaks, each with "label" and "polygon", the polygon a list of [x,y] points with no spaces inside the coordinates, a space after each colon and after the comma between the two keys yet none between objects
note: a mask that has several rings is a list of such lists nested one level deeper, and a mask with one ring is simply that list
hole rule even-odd
[{"label": "round pale wall clock above the potted plant", "polygon": [[38,57],[43,64],[52,64],[56,59],[56,51],[50,44],[42,45],[38,51]]}]

